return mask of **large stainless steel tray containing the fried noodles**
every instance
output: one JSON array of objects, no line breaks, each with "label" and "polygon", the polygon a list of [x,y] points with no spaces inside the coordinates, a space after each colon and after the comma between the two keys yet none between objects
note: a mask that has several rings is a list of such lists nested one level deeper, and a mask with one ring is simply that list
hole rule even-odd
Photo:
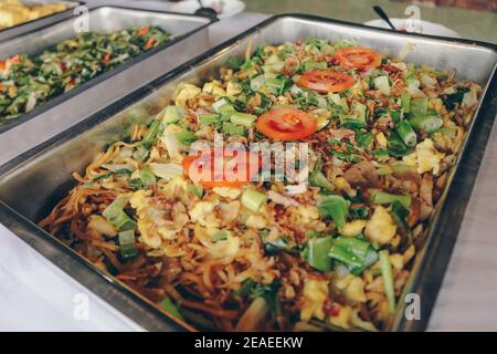
[{"label": "large stainless steel tray containing the fried noodles", "polygon": [[353,38],[393,56],[409,48],[411,50],[404,58],[406,62],[455,69],[457,79],[468,79],[484,87],[456,168],[436,206],[425,244],[416,256],[402,295],[402,299],[408,293],[420,295],[421,320],[406,320],[406,303],[401,300],[389,327],[392,331],[424,330],[497,112],[497,48],[493,44],[399,33],[310,15],[273,17],[0,167],[0,222],[145,329],[191,330],[157,311],[150,302],[116,279],[103,274],[34,222],[50,212],[74,186],[71,177],[74,170],[83,171],[97,152],[106,143],[116,140],[129,124],[151,119],[155,113],[169,104],[179,83],[199,83],[212,77],[228,58],[243,55],[248,45],[254,49],[263,43],[304,40],[310,35],[332,40]]}]

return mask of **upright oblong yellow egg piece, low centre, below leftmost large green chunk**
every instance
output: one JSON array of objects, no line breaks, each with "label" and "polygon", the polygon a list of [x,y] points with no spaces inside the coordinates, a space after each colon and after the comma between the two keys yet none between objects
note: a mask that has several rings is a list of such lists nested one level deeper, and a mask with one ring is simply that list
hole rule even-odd
[{"label": "upright oblong yellow egg piece, low centre, below leftmost large green chunk", "polygon": [[328,281],[309,279],[304,284],[304,306],[300,310],[300,320],[306,322],[311,317],[325,319],[322,305],[328,299]]}]

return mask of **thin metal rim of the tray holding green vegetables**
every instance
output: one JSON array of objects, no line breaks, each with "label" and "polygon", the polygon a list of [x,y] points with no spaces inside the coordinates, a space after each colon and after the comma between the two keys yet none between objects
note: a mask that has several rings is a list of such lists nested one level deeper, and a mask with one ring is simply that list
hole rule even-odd
[{"label": "thin metal rim of the tray holding green vegetables", "polygon": [[[61,104],[61,103],[72,98],[72,97],[78,95],[80,93],[82,93],[82,92],[84,92],[86,90],[92,88],[93,86],[96,86],[97,84],[104,82],[105,80],[107,80],[107,79],[109,79],[109,77],[112,77],[114,75],[117,75],[120,72],[124,72],[125,70],[131,67],[135,64],[138,64],[139,62],[146,60],[147,58],[150,58],[151,55],[154,55],[154,54],[156,54],[156,53],[158,53],[158,52],[160,52],[162,50],[166,50],[166,49],[175,45],[176,43],[180,42],[181,40],[183,40],[183,39],[192,35],[192,34],[203,30],[204,28],[207,28],[211,23],[214,23],[214,22],[218,21],[218,19],[211,19],[209,17],[195,15],[195,14],[190,14],[190,13],[178,13],[178,12],[159,11],[159,10],[142,10],[142,9],[135,9],[135,8],[121,7],[121,6],[109,6],[109,4],[103,4],[103,6],[98,6],[98,7],[92,8],[92,9],[89,9],[89,12],[96,11],[96,10],[99,10],[99,9],[106,9],[106,8],[109,8],[109,9],[125,9],[125,10],[142,11],[142,12],[157,12],[157,13],[162,13],[162,14],[181,15],[181,17],[184,17],[184,18],[205,19],[207,22],[204,24],[198,27],[197,29],[192,30],[192,31],[179,34],[179,35],[175,37],[172,40],[170,40],[169,42],[166,42],[166,43],[163,43],[161,45],[158,45],[158,46],[151,49],[148,52],[144,52],[144,53],[141,53],[141,54],[139,54],[139,55],[137,55],[137,56],[126,61],[125,63],[123,63],[123,64],[120,64],[120,65],[118,65],[118,66],[116,66],[116,67],[114,67],[114,69],[112,69],[112,70],[109,70],[109,71],[107,71],[105,73],[102,73],[101,75],[97,75],[97,76],[93,77],[92,80],[88,80],[87,82],[81,84],[80,86],[77,86],[77,87],[75,87],[75,88],[73,88],[73,90],[71,90],[68,92],[65,92],[65,93],[63,93],[61,95],[57,95],[55,97],[50,98],[44,104],[42,104],[40,106],[36,106],[33,111],[31,111],[29,113],[24,113],[24,114],[20,115],[19,117],[12,119],[9,123],[0,125],[0,134],[2,134],[4,132],[8,132],[8,131],[14,128],[15,126],[21,125],[21,124],[23,124],[23,123],[25,123],[25,122],[28,122],[30,119],[35,118],[36,116],[41,115],[42,113],[44,113],[44,112],[46,112],[46,111],[57,106],[59,104]],[[59,24],[59,23],[67,21],[70,19],[71,18],[61,19],[60,21],[55,21],[55,22],[49,23],[46,25],[43,25],[43,27],[33,29],[33,30],[30,30],[28,32],[22,33],[21,37],[22,35],[28,35],[30,33],[38,32],[40,30],[50,28],[52,25]],[[12,40],[12,38],[6,40],[6,42],[9,41],[9,40]]]}]

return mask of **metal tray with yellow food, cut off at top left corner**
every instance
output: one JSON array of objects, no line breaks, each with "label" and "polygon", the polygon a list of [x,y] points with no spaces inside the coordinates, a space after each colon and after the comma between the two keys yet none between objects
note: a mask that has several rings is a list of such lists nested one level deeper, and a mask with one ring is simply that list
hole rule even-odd
[{"label": "metal tray with yellow food, cut off at top left corner", "polygon": [[23,22],[23,23],[19,23],[17,25],[3,29],[0,31],[0,41],[4,41],[9,38],[13,38],[15,35],[20,35],[22,33],[32,31],[33,29],[50,24],[50,23],[54,23],[56,21],[63,20],[63,19],[67,19],[73,15],[73,11],[76,7],[84,4],[83,1],[65,1],[65,0],[23,0],[23,3],[27,4],[44,4],[44,3],[65,3],[67,6],[67,9],[65,9],[64,11],[61,12],[55,12],[49,15],[45,15],[43,18],[33,20],[33,21],[29,21],[29,22]]}]

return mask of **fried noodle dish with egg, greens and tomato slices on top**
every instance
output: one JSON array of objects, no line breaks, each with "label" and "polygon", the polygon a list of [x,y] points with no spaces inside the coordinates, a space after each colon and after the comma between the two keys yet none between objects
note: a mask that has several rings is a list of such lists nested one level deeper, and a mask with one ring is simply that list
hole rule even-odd
[{"label": "fried noodle dish with egg, greens and tomato slices on top", "polygon": [[[351,41],[260,46],[124,127],[40,226],[199,330],[388,330],[482,93],[454,76]],[[189,152],[216,134],[306,143],[306,168],[205,178]]]}]

